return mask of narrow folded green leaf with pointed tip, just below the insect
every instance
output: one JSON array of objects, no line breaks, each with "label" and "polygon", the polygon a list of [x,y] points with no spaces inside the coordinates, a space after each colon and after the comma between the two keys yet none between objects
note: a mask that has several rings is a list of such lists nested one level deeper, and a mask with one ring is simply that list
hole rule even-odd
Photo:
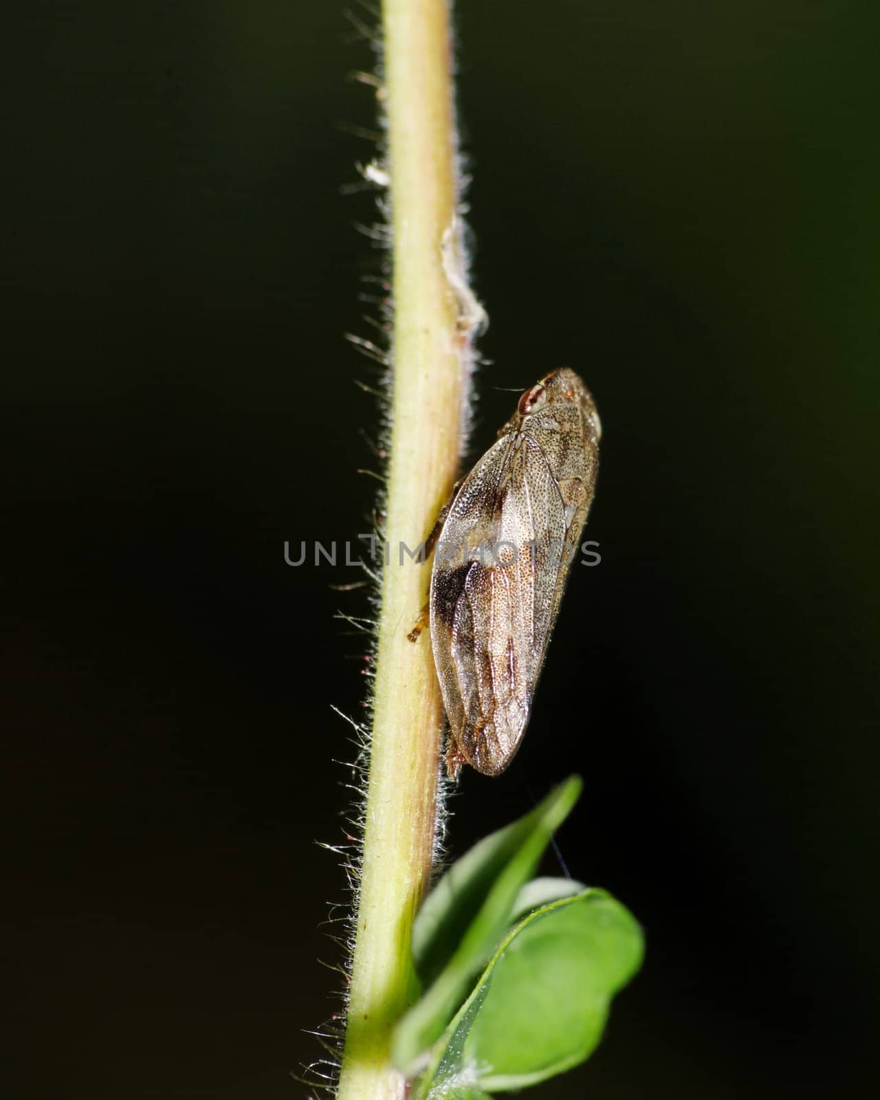
[{"label": "narrow folded green leaf with pointed tip, just below the insect", "polygon": [[400,1069],[411,1072],[425,1064],[424,1052],[443,1033],[504,936],[522,886],[581,785],[572,776],[531,813],[481,840],[426,899],[413,930],[413,955],[429,988],[395,1028],[392,1053]]}]

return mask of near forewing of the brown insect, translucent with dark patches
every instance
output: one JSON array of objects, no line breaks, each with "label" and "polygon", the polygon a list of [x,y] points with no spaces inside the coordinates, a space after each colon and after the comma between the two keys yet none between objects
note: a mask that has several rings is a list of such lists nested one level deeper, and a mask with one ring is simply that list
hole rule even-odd
[{"label": "near forewing of the brown insect, translucent with dark patches", "polygon": [[485,774],[526,729],[558,606],[565,506],[540,448],[503,437],[459,491],[438,543],[431,641],[455,746]]}]

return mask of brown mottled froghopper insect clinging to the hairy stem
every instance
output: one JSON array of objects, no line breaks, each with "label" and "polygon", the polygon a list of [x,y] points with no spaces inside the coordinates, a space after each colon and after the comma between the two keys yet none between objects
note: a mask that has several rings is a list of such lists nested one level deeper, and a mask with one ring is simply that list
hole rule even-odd
[{"label": "brown mottled froghopper insect clinging to the hairy stem", "polygon": [[499,774],[522,740],[601,432],[583,382],[553,371],[522,394],[438,521],[429,609],[453,778],[464,763]]}]

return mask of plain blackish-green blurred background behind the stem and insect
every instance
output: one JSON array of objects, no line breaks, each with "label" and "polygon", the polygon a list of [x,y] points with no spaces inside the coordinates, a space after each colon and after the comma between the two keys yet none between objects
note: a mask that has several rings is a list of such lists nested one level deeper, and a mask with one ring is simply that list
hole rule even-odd
[{"label": "plain blackish-green blurred background behind the stem and insect", "polygon": [[[568,363],[605,428],[526,745],[460,853],[572,771],[571,872],[642,922],[535,1096],[873,1096],[877,6],[459,6],[476,451]],[[3,66],[3,1097],[305,1097],[375,466],[340,194],[342,6],[22,6]],[[552,861],[548,864],[552,870]]]}]

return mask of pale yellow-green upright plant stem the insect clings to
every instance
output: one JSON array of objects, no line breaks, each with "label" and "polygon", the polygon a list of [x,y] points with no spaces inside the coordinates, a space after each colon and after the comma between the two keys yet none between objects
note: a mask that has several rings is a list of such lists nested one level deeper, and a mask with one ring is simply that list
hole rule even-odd
[{"label": "pale yellow-green upright plant stem the insect clings to", "polygon": [[[414,1002],[413,920],[429,884],[442,702],[429,638],[407,632],[429,570],[398,547],[430,530],[457,474],[466,339],[448,278],[457,141],[447,0],[384,0],[393,208],[394,397],[363,862],[339,1100],[399,1100],[391,1033]],[[454,246],[454,245],[453,245]],[[447,262],[443,255],[447,253]]]}]

